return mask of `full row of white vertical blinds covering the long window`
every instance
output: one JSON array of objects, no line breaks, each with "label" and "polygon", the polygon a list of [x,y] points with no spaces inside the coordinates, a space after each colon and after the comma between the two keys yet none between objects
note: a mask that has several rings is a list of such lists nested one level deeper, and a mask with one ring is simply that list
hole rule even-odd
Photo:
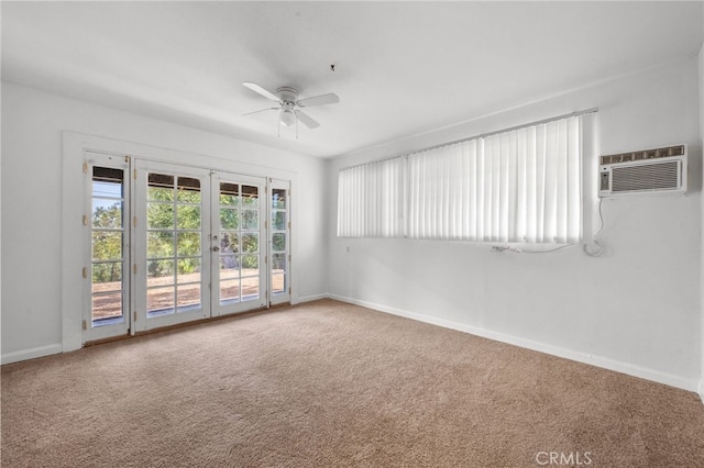
[{"label": "full row of white vertical blinds covering the long window", "polygon": [[572,116],[342,169],[338,235],[575,243],[581,138]]}]

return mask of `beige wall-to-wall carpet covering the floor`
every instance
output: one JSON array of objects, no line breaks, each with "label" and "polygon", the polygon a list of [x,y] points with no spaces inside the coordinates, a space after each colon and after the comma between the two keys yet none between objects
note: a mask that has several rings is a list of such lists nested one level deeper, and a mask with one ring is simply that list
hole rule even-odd
[{"label": "beige wall-to-wall carpet covering the floor", "polygon": [[704,404],[329,300],[2,367],[2,467],[557,463],[704,466]]}]

